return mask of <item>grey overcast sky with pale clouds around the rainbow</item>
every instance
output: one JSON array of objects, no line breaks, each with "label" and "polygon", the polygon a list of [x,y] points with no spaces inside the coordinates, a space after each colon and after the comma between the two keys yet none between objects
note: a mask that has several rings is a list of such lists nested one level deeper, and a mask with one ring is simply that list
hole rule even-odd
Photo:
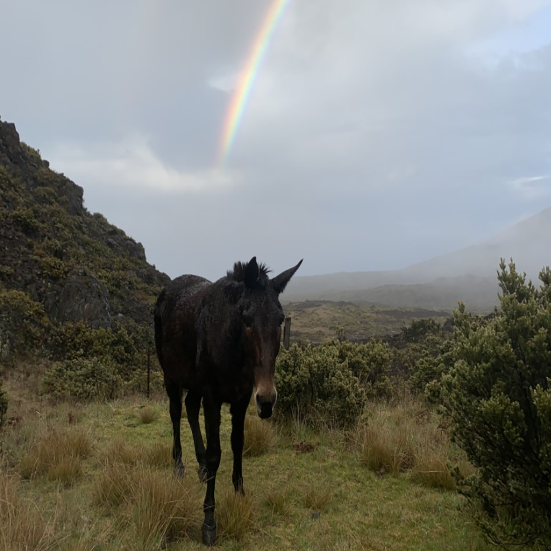
[{"label": "grey overcast sky with pale clouds around the rainbow", "polygon": [[[0,115],[176,277],[407,266],[551,206],[551,1],[0,0]],[[299,275],[299,274],[297,274]]]}]

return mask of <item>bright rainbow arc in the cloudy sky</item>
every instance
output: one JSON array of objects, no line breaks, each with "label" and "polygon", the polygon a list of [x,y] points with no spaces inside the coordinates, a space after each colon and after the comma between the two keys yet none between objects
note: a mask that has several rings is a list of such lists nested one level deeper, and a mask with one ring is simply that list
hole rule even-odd
[{"label": "bright rainbow arc in the cloudy sky", "polygon": [[290,0],[273,0],[263,20],[260,31],[258,31],[255,42],[253,42],[251,52],[241,72],[239,83],[231,97],[229,109],[226,112],[218,152],[218,166],[222,165],[225,159],[228,158],[247,99],[258,74],[258,68],[260,67],[264,53],[266,53],[273,31],[289,2]]}]

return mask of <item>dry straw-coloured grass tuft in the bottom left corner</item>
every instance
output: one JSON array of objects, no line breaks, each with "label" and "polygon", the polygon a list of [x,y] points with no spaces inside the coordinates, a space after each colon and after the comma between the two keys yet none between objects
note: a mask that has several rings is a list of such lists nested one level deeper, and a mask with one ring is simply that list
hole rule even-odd
[{"label": "dry straw-coloured grass tuft in the bottom left corner", "polygon": [[53,527],[39,508],[21,498],[19,481],[0,472],[0,549],[46,551],[56,545]]}]

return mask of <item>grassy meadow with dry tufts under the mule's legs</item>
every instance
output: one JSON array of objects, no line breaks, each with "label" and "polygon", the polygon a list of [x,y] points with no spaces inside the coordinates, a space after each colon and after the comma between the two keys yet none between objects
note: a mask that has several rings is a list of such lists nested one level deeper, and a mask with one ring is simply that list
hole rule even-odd
[{"label": "grassy meadow with dry tufts under the mule's legs", "polygon": [[[203,549],[205,486],[185,418],[186,475],[172,474],[168,399],[51,403],[30,372],[4,381],[0,549]],[[220,549],[487,549],[446,462],[472,467],[406,393],[370,403],[348,431],[277,426],[251,409],[245,498],[231,484],[230,426],[224,406]]]}]

